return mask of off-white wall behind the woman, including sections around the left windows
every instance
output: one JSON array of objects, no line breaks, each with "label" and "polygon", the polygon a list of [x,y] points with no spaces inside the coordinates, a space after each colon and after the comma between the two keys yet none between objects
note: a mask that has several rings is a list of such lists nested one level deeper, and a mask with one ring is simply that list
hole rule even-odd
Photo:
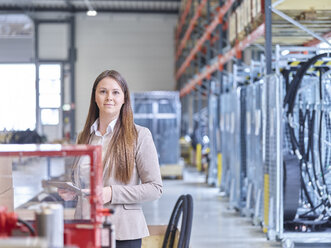
[{"label": "off-white wall behind the woman, including sections around the left windows", "polygon": [[[58,15],[58,16],[57,16]],[[38,19],[63,19],[63,14],[38,13]],[[118,70],[131,92],[174,90],[174,30],[177,15],[76,15],[76,130],[83,128],[91,87],[106,69]],[[42,24],[39,54],[42,59],[66,59],[69,29],[66,24]],[[28,62],[34,58],[33,37],[0,38],[1,62]],[[67,84],[65,89],[69,90]],[[65,103],[68,95],[65,92]]]}]

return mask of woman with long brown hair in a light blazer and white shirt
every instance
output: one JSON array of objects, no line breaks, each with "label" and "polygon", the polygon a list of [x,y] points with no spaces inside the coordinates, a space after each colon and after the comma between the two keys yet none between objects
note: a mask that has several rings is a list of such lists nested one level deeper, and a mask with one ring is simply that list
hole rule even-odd
[{"label": "woman with long brown hair in a light blazer and white shirt", "polygon": [[[115,210],[116,247],[141,247],[141,238],[149,233],[140,203],[161,197],[162,180],[152,135],[134,124],[128,85],[117,71],[96,78],[77,143],[102,145],[103,203]],[[59,194],[65,200],[75,197]],[[76,217],[89,217],[84,205],[78,202]]]}]

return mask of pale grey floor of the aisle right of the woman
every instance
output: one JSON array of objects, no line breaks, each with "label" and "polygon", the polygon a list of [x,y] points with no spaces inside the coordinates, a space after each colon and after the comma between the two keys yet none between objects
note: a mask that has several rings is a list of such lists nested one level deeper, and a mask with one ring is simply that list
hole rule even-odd
[{"label": "pale grey floor of the aisle right of the woman", "polygon": [[266,240],[260,227],[249,218],[227,209],[228,199],[218,195],[218,189],[207,186],[204,176],[193,169],[186,170],[184,180],[164,180],[160,200],[143,205],[147,223],[167,224],[171,211],[181,194],[194,199],[194,219],[191,235],[192,248],[267,248],[281,247],[280,242]]}]

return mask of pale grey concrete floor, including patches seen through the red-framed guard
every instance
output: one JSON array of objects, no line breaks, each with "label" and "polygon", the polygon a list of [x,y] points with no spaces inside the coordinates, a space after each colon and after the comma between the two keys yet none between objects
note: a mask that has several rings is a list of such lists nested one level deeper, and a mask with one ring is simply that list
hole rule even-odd
[{"label": "pale grey concrete floor, including patches seen through the red-framed guard", "polygon": [[[63,161],[54,159],[54,164],[57,166],[52,168],[51,176],[62,174]],[[44,159],[30,160],[26,165],[17,166],[13,170],[15,207],[38,194],[41,190],[40,181],[49,176]],[[196,172],[193,168],[184,170],[183,180],[164,180],[163,183],[164,193],[161,199],[143,204],[147,223],[167,225],[178,197],[182,194],[191,194],[194,200],[191,248],[282,247],[280,242],[268,241],[261,227],[253,226],[250,218],[241,217],[235,210],[230,210],[228,199],[220,196],[218,188],[206,185],[204,174]],[[329,244],[318,247],[331,246]]]}]

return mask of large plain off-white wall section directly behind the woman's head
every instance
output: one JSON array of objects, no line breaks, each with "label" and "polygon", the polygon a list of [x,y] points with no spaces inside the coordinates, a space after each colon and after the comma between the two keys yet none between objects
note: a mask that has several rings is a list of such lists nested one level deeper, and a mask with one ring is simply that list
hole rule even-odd
[{"label": "large plain off-white wall section directly behind the woman's head", "polygon": [[76,130],[83,128],[95,78],[118,70],[131,92],[174,90],[175,15],[99,14],[76,18]]}]

